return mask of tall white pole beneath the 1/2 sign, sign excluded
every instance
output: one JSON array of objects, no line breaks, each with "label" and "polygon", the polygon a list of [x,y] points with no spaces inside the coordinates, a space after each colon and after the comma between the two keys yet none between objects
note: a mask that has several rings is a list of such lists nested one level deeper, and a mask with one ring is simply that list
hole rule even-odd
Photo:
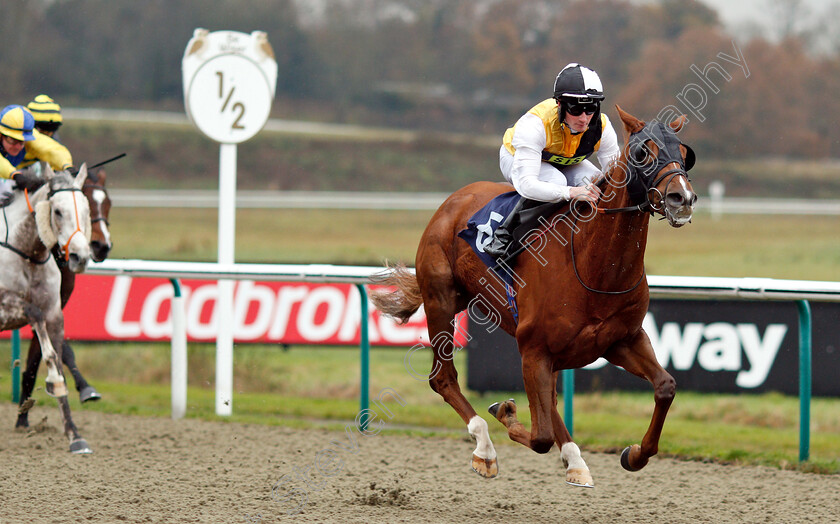
[{"label": "tall white pole beneath the 1/2 sign, sign excluded", "polygon": [[[234,263],[236,144],[219,146],[219,263]],[[233,280],[219,281],[216,303],[216,414],[233,413]]]}]

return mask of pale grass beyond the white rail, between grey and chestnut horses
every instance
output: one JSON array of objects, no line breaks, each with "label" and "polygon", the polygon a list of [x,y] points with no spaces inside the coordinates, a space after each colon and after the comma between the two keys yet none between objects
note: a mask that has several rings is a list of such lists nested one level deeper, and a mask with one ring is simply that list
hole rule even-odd
[{"label": "pale grass beyond the white rail, between grey and chestnut horses", "polygon": [[[347,265],[380,265],[385,258],[413,261],[431,216],[431,211],[239,210],[236,261]],[[118,240],[111,258],[217,260],[217,220],[214,209],[115,207],[111,233]],[[179,226],[173,228],[173,223]]]}]

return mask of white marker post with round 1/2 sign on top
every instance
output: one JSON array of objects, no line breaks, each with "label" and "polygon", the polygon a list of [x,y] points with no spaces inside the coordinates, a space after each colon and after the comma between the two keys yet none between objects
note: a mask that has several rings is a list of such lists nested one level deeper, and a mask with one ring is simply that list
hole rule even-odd
[{"label": "white marker post with round 1/2 sign on top", "polygon": [[[265,126],[277,87],[277,61],[263,31],[196,28],[181,59],[187,116],[219,142],[219,264],[234,264],[236,144]],[[233,412],[233,281],[216,302],[216,414]]]}]

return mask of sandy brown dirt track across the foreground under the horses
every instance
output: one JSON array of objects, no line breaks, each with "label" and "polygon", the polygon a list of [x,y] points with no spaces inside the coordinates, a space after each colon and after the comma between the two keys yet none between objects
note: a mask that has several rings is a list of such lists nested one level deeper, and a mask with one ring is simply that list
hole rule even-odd
[{"label": "sandy brown dirt track across the foreground under the horses", "polygon": [[556,449],[497,442],[501,473],[485,480],[469,468],[466,439],[355,429],[350,439],[83,409],[75,419],[94,453],[74,456],[54,403],[31,412],[33,425],[48,417],[40,432],[15,432],[15,416],[0,406],[2,524],[840,522],[838,475],[658,458],[629,473],[617,455],[584,450],[596,483],[585,489],[563,482]]}]

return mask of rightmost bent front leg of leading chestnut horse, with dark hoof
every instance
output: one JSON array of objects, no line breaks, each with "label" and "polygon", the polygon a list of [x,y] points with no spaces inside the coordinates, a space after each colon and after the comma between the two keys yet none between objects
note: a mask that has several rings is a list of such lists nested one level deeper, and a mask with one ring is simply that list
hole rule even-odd
[{"label": "rightmost bent front leg of leading chestnut horse, with dark hoof", "polygon": [[659,438],[662,435],[665,417],[668,416],[668,409],[674,401],[677,383],[674,377],[659,365],[650,339],[643,329],[613,345],[604,354],[604,358],[653,384],[653,417],[642,438],[642,445],[634,444],[621,454],[621,465],[624,469],[638,471],[647,465],[650,457],[659,452]]}]

